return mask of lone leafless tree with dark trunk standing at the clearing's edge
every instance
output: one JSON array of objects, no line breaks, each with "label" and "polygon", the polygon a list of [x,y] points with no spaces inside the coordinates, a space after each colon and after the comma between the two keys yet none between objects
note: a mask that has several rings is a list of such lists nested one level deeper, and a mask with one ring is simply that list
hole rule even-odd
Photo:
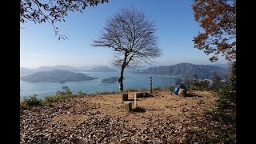
[{"label": "lone leafless tree with dark trunk standing at the clearing's edge", "polygon": [[123,91],[123,72],[126,66],[151,63],[151,58],[161,55],[155,37],[154,22],[135,9],[122,9],[106,21],[104,31],[92,46],[109,47],[114,50],[112,64],[121,67],[119,90]]}]

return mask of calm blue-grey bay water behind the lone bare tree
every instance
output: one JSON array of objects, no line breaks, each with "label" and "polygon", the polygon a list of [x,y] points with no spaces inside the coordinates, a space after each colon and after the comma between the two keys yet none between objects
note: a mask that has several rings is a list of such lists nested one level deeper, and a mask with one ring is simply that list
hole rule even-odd
[{"label": "calm blue-grey bay water behind the lone bare tree", "polygon": [[[75,94],[82,90],[83,93],[101,93],[101,92],[118,92],[118,82],[114,83],[102,83],[103,78],[119,77],[119,72],[89,72],[82,71],[80,73],[86,74],[90,77],[97,79],[91,81],[82,82],[24,82],[20,81],[20,98],[24,96],[30,96],[32,94],[38,94],[38,98],[44,98],[46,95],[54,95],[58,90],[62,90],[62,86],[68,86],[70,90]],[[174,86],[175,78],[167,78],[161,76],[151,76],[152,86]],[[124,73],[123,85],[124,90],[136,89],[140,90],[146,88],[150,90],[150,75],[146,74],[131,74],[129,72]]]}]

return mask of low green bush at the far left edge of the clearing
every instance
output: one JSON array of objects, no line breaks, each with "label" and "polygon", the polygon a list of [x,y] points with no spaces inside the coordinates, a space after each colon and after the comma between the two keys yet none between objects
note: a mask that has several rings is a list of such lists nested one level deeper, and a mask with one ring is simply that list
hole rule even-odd
[{"label": "low green bush at the far left edge of the clearing", "polygon": [[23,102],[21,102],[21,109],[30,109],[34,106],[41,106],[42,100],[38,98],[37,94],[30,95],[29,98],[24,97]]}]

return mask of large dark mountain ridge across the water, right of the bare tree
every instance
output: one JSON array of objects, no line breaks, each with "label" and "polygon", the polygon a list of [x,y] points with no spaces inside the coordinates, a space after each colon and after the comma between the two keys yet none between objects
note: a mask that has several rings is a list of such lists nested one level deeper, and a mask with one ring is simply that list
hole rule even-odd
[{"label": "large dark mountain ridge across the water, right of the bare tree", "polygon": [[145,70],[134,70],[131,73],[134,74],[151,74],[161,76],[171,76],[177,78],[194,78],[194,74],[198,75],[198,78],[213,78],[214,72],[221,76],[227,76],[228,70],[218,66],[209,65],[194,65],[191,63],[179,63],[173,66],[156,66],[150,67]]}]

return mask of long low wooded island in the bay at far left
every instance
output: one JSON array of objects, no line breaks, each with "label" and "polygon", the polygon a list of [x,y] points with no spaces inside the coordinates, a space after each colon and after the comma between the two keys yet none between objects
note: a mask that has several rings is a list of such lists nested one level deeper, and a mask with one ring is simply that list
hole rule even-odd
[{"label": "long low wooded island in the bay at far left", "polygon": [[90,81],[97,78],[86,76],[82,73],[74,73],[69,70],[39,71],[20,78],[26,82],[79,82]]}]

